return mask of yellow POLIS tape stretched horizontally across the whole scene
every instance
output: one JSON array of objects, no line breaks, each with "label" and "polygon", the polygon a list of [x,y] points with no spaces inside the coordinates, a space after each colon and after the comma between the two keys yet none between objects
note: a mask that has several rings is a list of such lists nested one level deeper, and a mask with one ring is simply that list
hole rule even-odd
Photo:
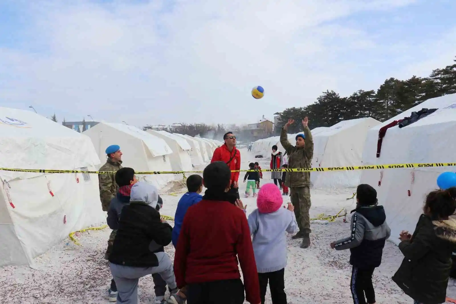
[{"label": "yellow POLIS tape stretched horizontally across the whole scene", "polygon": [[[326,167],[326,168],[287,168],[287,169],[261,169],[261,172],[324,172],[324,171],[352,171],[352,170],[378,170],[394,168],[436,168],[453,167],[456,162],[433,162],[433,163],[399,163],[385,165]],[[19,169],[0,168],[0,171],[31,172],[31,173],[87,173],[87,174],[115,174],[115,171],[83,171],[83,170],[53,170],[53,169]],[[258,170],[231,170],[231,172],[254,172]],[[185,174],[202,173],[202,171],[136,171],[136,174]],[[184,175],[185,176],[185,175]]]}]

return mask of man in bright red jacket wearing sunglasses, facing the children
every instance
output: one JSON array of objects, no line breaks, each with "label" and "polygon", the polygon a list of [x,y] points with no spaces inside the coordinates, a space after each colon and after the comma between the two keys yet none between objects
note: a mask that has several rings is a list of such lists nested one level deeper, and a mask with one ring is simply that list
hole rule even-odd
[{"label": "man in bright red jacket wearing sunglasses, facing the children", "polygon": [[[224,162],[228,165],[231,171],[240,170],[241,152],[236,149],[236,136],[233,135],[233,132],[227,132],[223,135],[223,140],[225,141],[225,144],[215,149],[211,162]],[[239,198],[238,179],[239,171],[231,172],[230,192],[236,194]]]}]

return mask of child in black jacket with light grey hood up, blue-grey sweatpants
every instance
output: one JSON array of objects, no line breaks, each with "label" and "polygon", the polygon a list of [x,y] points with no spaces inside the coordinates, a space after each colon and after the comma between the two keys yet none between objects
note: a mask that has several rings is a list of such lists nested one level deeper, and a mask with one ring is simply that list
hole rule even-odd
[{"label": "child in black jacket with light grey hood up, blue-grey sweatpants", "polygon": [[[136,304],[138,280],[147,274],[160,275],[171,295],[178,292],[171,260],[160,250],[171,242],[172,228],[160,220],[158,201],[154,186],[138,182],[131,188],[130,204],[122,208],[109,257],[118,303]],[[165,303],[164,297],[156,300]]]}]

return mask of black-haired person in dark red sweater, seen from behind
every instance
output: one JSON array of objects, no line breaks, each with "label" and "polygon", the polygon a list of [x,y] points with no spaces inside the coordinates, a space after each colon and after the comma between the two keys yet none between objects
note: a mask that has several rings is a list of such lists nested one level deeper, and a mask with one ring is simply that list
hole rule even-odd
[{"label": "black-haired person in dark red sweater, seen from behind", "polygon": [[[174,255],[179,288],[187,286],[187,304],[260,304],[258,273],[243,210],[229,193],[231,174],[224,162],[203,171],[207,188],[190,206],[181,226]],[[241,266],[244,284],[238,267]]]}]

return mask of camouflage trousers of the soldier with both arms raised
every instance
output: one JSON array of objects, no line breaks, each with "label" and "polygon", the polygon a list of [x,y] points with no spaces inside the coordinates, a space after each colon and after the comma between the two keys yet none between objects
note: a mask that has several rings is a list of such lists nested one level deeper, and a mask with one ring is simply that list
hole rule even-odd
[{"label": "camouflage trousers of the soldier with both arms raised", "polygon": [[309,186],[290,188],[291,203],[295,207],[295,217],[299,231],[311,233],[309,210],[311,209],[311,190]]}]

